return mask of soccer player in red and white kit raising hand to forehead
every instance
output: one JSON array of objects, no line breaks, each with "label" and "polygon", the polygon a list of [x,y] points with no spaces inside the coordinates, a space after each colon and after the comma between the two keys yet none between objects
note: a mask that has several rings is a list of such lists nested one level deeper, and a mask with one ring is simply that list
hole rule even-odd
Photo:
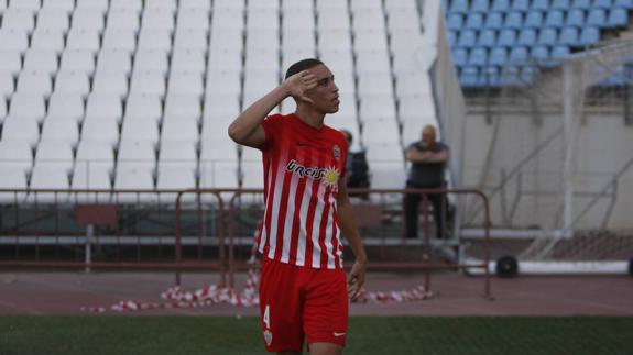
[{"label": "soccer player in red and white kit raising hand to forehead", "polygon": [[[287,97],[296,111],[269,117]],[[310,354],[341,354],[348,298],[364,282],[367,255],[345,184],[345,136],[324,124],[339,103],[328,67],[304,59],[229,126],[236,143],[263,155],[260,323],[269,352],[301,354],[305,337]],[[356,257],[347,284],[341,234]]]}]

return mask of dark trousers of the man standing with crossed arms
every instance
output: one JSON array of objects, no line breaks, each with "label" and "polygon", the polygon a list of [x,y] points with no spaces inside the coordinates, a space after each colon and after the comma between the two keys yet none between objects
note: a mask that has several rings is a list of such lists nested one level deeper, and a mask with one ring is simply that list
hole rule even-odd
[{"label": "dark trousers of the man standing with crossed arms", "polygon": [[[406,182],[410,189],[441,189],[445,186],[422,187],[412,182]],[[419,202],[426,197],[427,208],[433,206],[433,220],[435,221],[435,236],[443,238],[445,235],[445,220],[448,203],[445,193],[406,193],[404,198],[404,218],[405,218],[405,235],[407,238],[417,237],[417,225],[419,218]]]}]

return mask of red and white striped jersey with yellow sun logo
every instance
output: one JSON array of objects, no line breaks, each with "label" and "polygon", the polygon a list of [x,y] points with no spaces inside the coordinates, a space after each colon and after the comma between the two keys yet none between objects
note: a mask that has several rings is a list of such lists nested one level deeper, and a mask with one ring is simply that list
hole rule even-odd
[{"label": "red and white striped jersey with yellow sun logo", "polygon": [[259,251],[273,260],[312,268],[341,268],[338,181],[343,178],[345,136],[315,129],[295,114],[263,122],[264,223]]}]

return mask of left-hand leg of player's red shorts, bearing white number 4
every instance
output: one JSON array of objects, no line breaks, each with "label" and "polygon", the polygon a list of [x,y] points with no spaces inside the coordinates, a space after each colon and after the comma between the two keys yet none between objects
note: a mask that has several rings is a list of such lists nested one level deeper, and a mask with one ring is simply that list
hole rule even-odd
[{"label": "left-hand leg of player's red shorts, bearing white number 4", "polygon": [[288,265],[264,260],[260,279],[260,325],[269,352],[301,352],[304,340],[299,290]]}]

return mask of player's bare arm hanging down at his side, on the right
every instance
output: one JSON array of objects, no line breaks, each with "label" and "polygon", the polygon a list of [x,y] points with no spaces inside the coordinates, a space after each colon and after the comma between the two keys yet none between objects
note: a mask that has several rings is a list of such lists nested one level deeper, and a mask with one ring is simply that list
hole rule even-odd
[{"label": "player's bare arm hanging down at his side, on the right", "polygon": [[356,299],[360,295],[360,290],[364,284],[367,254],[364,253],[364,246],[362,245],[362,240],[360,238],[358,226],[353,218],[351,203],[347,196],[346,179],[339,179],[338,181],[337,207],[338,220],[340,222],[342,235],[349,243],[356,258],[348,276],[348,293],[351,299]]}]

